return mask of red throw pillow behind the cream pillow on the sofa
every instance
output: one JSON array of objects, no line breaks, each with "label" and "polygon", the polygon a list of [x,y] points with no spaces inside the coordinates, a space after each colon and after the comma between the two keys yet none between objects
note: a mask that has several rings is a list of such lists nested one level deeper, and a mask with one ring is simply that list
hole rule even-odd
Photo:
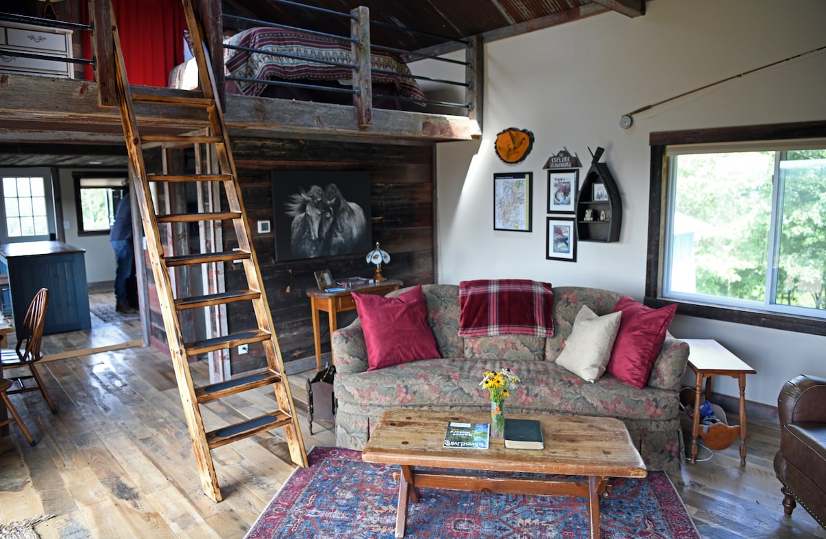
[{"label": "red throw pillow behind the cream pillow on the sofa", "polygon": [[622,311],[622,316],[606,372],[625,384],[643,389],[666,340],[676,303],[653,309],[623,296],[614,308],[614,312],[617,311]]}]

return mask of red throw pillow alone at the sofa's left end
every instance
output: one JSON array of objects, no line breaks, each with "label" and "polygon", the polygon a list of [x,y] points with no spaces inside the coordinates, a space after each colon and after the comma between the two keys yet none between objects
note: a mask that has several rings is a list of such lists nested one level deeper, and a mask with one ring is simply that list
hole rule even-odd
[{"label": "red throw pillow alone at the sofa's left end", "polygon": [[368,293],[353,293],[353,298],[367,344],[368,370],[441,357],[427,325],[420,284],[397,298]]}]

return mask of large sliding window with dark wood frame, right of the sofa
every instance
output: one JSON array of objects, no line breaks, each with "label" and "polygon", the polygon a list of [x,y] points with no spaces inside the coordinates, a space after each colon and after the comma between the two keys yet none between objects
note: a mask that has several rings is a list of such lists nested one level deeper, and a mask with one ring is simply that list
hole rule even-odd
[{"label": "large sliding window with dark wood frame, right of the sofa", "polygon": [[652,134],[647,302],[826,334],[826,139],[737,130]]}]

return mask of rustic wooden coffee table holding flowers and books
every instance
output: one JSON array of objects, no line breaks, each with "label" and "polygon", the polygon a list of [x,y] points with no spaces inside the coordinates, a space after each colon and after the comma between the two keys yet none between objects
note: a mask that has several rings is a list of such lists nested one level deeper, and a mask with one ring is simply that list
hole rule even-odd
[{"label": "rustic wooden coffee table holding flowers and books", "polygon": [[[489,491],[503,494],[544,494],[588,499],[591,538],[600,537],[600,499],[610,494],[609,477],[645,477],[643,459],[631,443],[628,429],[610,417],[507,417],[542,422],[543,451],[505,449],[491,440],[487,450],[442,447],[448,422],[490,422],[490,413],[387,410],[364,447],[362,460],[396,464],[401,473],[396,513],[396,537],[405,537],[407,503],[417,503],[415,488]],[[414,470],[413,467],[419,468]],[[429,468],[476,470],[428,471]],[[479,472],[505,471],[535,474],[584,475],[587,479],[503,477]]]}]

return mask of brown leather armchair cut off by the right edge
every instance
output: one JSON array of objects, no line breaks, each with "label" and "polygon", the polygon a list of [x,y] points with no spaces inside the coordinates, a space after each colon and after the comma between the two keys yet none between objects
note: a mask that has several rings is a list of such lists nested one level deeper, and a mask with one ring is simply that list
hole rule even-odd
[{"label": "brown leather armchair cut off by the right edge", "polygon": [[783,507],[797,503],[826,527],[826,379],[801,374],[777,396],[780,451],[774,460]]}]

